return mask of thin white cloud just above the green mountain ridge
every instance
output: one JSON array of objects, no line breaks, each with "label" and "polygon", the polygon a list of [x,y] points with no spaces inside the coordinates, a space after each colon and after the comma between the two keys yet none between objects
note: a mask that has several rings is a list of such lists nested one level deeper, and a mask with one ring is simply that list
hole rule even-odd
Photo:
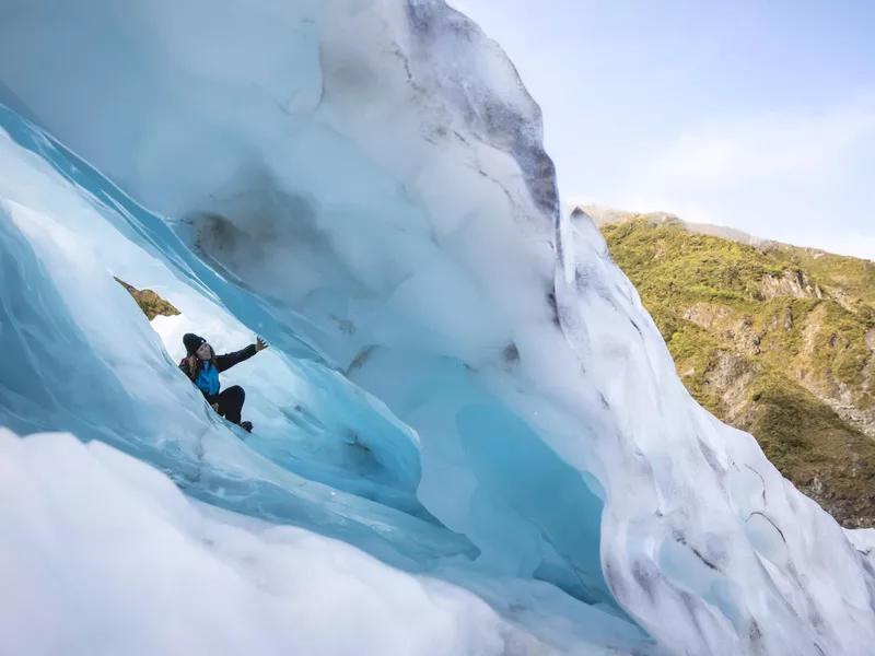
[{"label": "thin white cloud just above the green mountain ridge", "polygon": [[629,153],[600,202],[875,259],[875,94],[699,125]]}]

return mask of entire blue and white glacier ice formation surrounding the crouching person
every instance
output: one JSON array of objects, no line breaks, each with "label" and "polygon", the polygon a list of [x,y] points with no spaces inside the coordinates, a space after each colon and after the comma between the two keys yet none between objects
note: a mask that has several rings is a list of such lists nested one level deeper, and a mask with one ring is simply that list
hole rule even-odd
[{"label": "entire blue and white glacier ice formation surrounding the crouching person", "polygon": [[[7,0],[0,102],[0,649],[871,652],[868,536],[687,395],[463,14]],[[252,437],[188,329],[270,341]]]}]

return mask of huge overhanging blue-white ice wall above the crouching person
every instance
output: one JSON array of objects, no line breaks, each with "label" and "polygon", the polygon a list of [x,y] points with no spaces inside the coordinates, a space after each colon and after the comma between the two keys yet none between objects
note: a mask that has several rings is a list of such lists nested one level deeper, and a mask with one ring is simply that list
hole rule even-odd
[{"label": "huge overhanging blue-white ice wall above the crouching person", "polygon": [[685,393],[592,222],[560,216],[537,106],[464,16],[12,9],[0,79],[170,218],[113,220],[412,427],[418,501],[485,571],[620,607],[669,653],[867,653],[871,569]]}]

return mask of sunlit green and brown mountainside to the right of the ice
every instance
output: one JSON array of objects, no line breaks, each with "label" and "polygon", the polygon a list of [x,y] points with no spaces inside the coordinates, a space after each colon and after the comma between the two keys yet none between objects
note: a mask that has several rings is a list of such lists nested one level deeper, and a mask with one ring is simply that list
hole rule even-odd
[{"label": "sunlit green and brown mountainside to the right of the ice", "polygon": [[875,265],[665,214],[599,223],[690,394],[842,525],[875,526]]}]

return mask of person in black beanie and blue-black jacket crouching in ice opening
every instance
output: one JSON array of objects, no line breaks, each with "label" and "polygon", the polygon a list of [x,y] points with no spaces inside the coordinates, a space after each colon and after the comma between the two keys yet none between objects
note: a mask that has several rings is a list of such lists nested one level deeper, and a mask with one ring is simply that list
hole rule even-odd
[{"label": "person in black beanie and blue-black jacket crouching in ice opening", "polygon": [[183,373],[200,389],[213,410],[252,433],[252,422],[241,421],[246,393],[240,385],[234,385],[220,394],[219,374],[267,349],[265,340],[259,337],[254,344],[224,355],[217,355],[206,339],[190,332],[183,337],[183,343],[186,351],[186,356],[179,363]]}]

